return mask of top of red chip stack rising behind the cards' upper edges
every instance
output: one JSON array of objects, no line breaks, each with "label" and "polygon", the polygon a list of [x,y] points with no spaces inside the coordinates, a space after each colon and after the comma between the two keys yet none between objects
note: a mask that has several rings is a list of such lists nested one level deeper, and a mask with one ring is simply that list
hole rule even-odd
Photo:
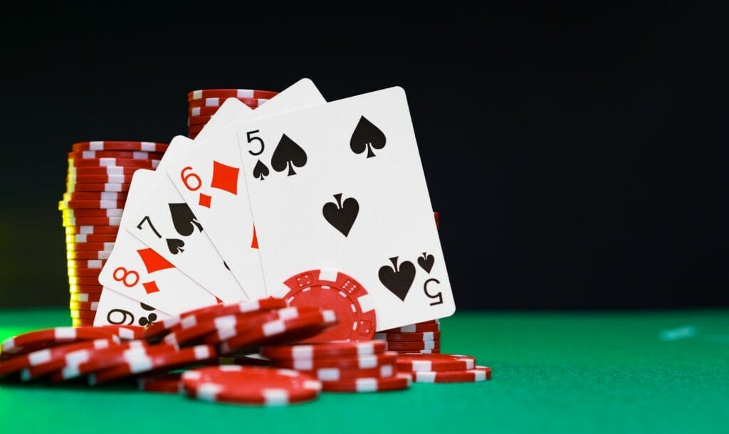
[{"label": "top of red chip stack rising behind the cards' upper edges", "polygon": [[227,98],[235,98],[250,108],[257,108],[278,92],[249,89],[205,89],[187,94],[187,135],[195,138]]}]

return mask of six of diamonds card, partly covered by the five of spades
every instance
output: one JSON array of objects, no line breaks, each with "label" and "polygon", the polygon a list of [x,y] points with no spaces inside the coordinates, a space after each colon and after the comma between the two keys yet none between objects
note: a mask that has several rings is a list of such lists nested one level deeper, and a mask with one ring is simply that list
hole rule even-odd
[{"label": "six of diamonds card, partly covered by the five of spades", "polygon": [[[266,117],[320,103],[324,98],[319,90],[311,80],[302,79],[244,118]],[[243,291],[251,299],[261,299],[268,293],[241,171],[241,150],[234,126],[237,123],[208,135],[208,140],[195,145],[195,151],[171,162],[167,173]]]}]

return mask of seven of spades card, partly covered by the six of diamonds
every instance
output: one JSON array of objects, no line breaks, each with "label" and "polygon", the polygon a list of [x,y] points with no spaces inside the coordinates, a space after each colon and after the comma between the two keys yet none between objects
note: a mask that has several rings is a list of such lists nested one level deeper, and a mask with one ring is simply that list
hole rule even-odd
[{"label": "seven of spades card, partly covered by the six of diamonds", "polygon": [[[251,111],[240,105],[245,107],[243,113]],[[169,161],[190,151],[193,143],[182,136],[171,141],[155,171],[156,186],[145,187],[154,194],[124,211],[125,229],[218,299],[225,303],[247,300],[249,297],[225,267],[203,226],[163,171]]]}]

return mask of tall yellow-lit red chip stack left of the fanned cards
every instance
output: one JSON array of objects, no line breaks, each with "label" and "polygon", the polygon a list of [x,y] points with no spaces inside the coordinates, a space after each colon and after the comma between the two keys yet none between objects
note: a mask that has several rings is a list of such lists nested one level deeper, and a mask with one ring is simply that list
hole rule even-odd
[{"label": "tall yellow-lit red chip stack left of the fanned cards", "polygon": [[98,274],[116,240],[133,173],[154,169],[165,143],[90,141],[69,152],[66,193],[58,202],[66,229],[71,323],[92,325],[101,294]]}]

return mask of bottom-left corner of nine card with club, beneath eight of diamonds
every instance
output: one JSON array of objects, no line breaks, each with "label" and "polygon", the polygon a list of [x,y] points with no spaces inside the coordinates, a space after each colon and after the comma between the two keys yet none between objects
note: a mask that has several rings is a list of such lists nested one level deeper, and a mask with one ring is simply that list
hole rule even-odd
[{"label": "bottom-left corner of nine card with club, beneath eight of diamonds", "polygon": [[141,325],[170,317],[160,309],[130,299],[109,288],[101,290],[93,325]]}]

